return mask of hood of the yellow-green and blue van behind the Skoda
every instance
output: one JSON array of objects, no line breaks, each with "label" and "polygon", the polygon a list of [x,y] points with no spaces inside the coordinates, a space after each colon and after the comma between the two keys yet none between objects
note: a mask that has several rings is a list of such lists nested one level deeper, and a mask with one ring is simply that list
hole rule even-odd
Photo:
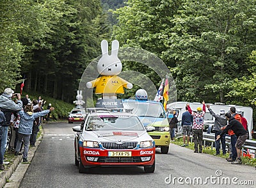
[{"label": "hood of the yellow-green and blue van behind the Skoda", "polygon": [[148,125],[152,127],[166,127],[169,125],[167,118],[154,118],[148,116],[139,116],[139,118],[145,127]]}]

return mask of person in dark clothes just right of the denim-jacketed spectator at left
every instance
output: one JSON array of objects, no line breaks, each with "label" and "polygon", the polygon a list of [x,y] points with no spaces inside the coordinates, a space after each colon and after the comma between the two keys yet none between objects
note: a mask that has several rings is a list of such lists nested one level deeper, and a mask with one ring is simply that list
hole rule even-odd
[{"label": "person in dark clothes just right of the denim-jacketed spectator at left", "polygon": [[[34,113],[42,112],[41,103],[38,104],[37,100],[33,100],[32,104],[33,104],[33,106],[37,106],[36,109],[33,109]],[[31,134],[31,137],[29,140],[30,146],[32,146],[32,147],[36,146],[35,143],[36,143],[37,134],[40,130],[40,123],[41,123],[41,117],[37,117],[33,121],[32,134]]]}]

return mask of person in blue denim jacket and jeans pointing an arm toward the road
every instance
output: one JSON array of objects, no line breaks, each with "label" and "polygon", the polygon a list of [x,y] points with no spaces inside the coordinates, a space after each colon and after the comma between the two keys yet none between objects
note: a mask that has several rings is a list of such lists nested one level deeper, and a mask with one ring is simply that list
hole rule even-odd
[{"label": "person in blue denim jacket and jeans pointing an arm toward the road", "polygon": [[50,111],[54,110],[54,107],[51,107],[49,110],[45,110],[38,113],[33,113],[33,106],[27,105],[24,111],[19,111],[20,115],[20,125],[19,125],[19,136],[17,146],[15,148],[15,155],[20,155],[20,145],[22,139],[24,140],[24,152],[23,152],[23,162],[28,162],[28,149],[29,149],[29,139],[30,135],[32,134],[33,129],[33,121],[35,118],[40,116],[44,116],[45,114],[49,113]]}]

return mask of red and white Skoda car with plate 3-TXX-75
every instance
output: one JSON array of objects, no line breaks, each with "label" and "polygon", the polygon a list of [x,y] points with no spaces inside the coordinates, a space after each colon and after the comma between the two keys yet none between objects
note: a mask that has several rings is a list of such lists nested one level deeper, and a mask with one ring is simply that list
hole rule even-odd
[{"label": "red and white Skoda car with plate 3-TXX-75", "polygon": [[145,173],[154,173],[155,142],[138,116],[97,111],[88,113],[73,130],[77,132],[74,146],[79,173],[96,166],[143,166]]}]

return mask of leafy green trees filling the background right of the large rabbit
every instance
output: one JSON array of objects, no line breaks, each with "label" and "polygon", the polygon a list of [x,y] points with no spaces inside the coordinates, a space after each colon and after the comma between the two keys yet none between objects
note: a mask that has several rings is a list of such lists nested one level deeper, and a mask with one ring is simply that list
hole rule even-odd
[{"label": "leafy green trees filling the background right of the large rabbit", "polygon": [[248,77],[248,54],[256,48],[255,1],[135,0],[114,13],[113,38],[163,59],[179,100],[234,104],[227,93],[234,79]]}]

